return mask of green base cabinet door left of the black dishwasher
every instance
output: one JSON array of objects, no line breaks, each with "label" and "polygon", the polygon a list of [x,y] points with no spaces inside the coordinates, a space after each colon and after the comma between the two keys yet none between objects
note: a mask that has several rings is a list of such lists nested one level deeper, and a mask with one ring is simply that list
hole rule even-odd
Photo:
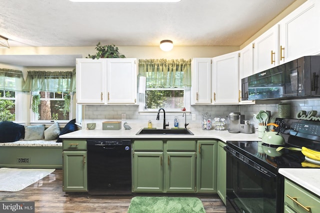
[{"label": "green base cabinet door left of the black dishwasher", "polygon": [[63,186],[64,192],[87,192],[86,151],[64,151]]}]

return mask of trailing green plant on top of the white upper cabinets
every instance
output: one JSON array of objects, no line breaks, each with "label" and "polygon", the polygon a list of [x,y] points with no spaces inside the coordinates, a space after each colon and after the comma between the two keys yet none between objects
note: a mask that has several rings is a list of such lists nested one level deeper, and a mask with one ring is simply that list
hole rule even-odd
[{"label": "trailing green plant on top of the white upper cabinets", "polygon": [[119,53],[118,47],[114,44],[101,46],[100,42],[96,44],[96,53],[94,55],[88,54],[86,58],[99,59],[99,58],[125,58],[124,55]]}]

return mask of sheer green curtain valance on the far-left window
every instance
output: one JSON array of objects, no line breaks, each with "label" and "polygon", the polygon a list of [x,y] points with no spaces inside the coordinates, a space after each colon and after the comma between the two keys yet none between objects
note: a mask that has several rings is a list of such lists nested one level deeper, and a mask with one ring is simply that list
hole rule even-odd
[{"label": "sheer green curtain valance on the far-left window", "polygon": [[24,79],[21,70],[0,69],[0,89],[22,91]]}]

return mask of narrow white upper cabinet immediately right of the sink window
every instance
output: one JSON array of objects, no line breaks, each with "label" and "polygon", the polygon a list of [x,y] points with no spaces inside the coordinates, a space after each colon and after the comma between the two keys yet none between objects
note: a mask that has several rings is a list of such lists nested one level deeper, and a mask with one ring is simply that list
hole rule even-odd
[{"label": "narrow white upper cabinet immediately right of the sink window", "polygon": [[191,61],[191,104],[211,104],[211,58]]}]

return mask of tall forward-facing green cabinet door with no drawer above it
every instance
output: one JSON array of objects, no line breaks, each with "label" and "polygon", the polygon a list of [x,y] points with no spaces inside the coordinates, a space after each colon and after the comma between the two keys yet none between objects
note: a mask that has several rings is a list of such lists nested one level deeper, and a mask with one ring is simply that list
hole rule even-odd
[{"label": "tall forward-facing green cabinet door with no drawer above it", "polygon": [[216,192],[217,141],[197,141],[196,186],[199,193]]}]

